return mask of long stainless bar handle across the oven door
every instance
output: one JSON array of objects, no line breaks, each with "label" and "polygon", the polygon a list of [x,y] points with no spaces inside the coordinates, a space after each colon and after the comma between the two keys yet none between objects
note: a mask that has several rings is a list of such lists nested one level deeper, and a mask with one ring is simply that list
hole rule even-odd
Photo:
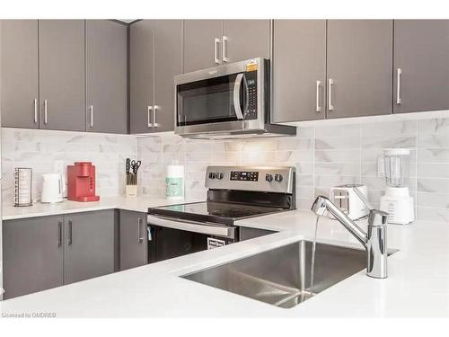
[{"label": "long stainless bar handle across the oven door", "polygon": [[197,221],[173,219],[170,217],[156,217],[147,215],[148,225],[168,227],[179,229],[186,232],[195,232],[206,235],[231,236],[235,227],[232,226],[216,226],[209,223],[201,223]]}]

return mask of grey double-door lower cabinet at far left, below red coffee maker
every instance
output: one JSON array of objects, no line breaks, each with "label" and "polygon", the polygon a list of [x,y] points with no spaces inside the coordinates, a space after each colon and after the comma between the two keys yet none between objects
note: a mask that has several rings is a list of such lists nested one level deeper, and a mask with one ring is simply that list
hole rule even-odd
[{"label": "grey double-door lower cabinet at far left, below red coffee maker", "polygon": [[114,209],[3,222],[4,298],[118,270]]}]

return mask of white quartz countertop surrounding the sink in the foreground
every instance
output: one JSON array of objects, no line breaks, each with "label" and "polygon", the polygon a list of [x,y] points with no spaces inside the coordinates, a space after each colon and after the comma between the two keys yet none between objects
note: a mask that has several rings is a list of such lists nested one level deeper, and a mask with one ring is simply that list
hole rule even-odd
[{"label": "white quartz countertop surrounding the sink in the foreground", "polygon": [[[0,303],[4,315],[51,312],[57,316],[398,317],[449,315],[449,226],[415,222],[389,226],[389,278],[365,270],[290,309],[270,306],[184,275],[301,239],[311,239],[315,217],[288,211],[239,222],[280,231],[210,251],[193,253]],[[365,228],[364,224],[360,226]],[[336,221],[320,223],[318,242],[362,249]]]}]

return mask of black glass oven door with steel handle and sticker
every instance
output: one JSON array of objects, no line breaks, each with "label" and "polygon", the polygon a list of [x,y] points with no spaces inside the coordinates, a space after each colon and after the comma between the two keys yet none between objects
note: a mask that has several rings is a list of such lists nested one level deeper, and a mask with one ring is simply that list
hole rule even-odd
[{"label": "black glass oven door with steel handle and sticker", "polygon": [[237,230],[234,226],[201,224],[150,215],[147,216],[147,220],[149,263],[201,252],[237,241]]}]

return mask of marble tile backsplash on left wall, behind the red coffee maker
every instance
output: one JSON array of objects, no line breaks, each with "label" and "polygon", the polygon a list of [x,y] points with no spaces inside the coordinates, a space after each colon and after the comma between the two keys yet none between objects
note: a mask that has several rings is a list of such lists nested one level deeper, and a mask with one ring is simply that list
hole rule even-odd
[{"label": "marble tile backsplash on left wall, behind the red coffee maker", "polygon": [[13,204],[15,167],[33,170],[33,200],[40,200],[42,173],[54,172],[54,163],[66,167],[88,161],[96,166],[96,188],[101,196],[125,193],[125,159],[136,158],[134,136],[34,129],[2,128],[2,192]]}]

